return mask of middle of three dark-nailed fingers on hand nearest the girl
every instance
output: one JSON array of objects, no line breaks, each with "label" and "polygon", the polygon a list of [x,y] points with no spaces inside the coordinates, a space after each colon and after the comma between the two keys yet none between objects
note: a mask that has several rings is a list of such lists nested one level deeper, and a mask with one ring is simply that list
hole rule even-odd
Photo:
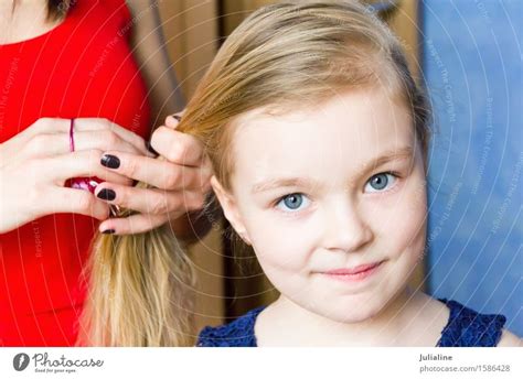
[{"label": "middle of three dark-nailed fingers on hand nearest the girl", "polygon": [[96,187],[95,196],[124,208],[150,215],[170,214],[174,218],[203,208],[205,202],[201,192],[138,188],[106,182]]}]

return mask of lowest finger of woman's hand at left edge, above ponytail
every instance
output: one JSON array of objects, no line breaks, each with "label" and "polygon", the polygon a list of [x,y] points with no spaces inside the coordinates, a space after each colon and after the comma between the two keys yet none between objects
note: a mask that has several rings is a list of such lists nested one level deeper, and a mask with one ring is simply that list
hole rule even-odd
[{"label": "lowest finger of woman's hand at left edge, above ponytail", "polygon": [[90,192],[50,187],[49,196],[45,197],[43,212],[45,214],[73,213],[90,216],[99,220],[109,217],[107,203],[96,198]]}]

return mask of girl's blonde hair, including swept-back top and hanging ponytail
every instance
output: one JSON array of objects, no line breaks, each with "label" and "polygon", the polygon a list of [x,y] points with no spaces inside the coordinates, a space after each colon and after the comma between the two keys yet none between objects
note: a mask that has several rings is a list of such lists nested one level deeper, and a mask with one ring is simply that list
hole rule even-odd
[{"label": "girl's blonde hair, including swept-back top and hanging ponytail", "polygon": [[[285,113],[342,91],[381,86],[408,107],[427,161],[426,98],[397,39],[355,1],[291,1],[262,8],[225,41],[178,126],[199,138],[231,188],[234,121],[254,109]],[[189,262],[167,227],[99,236],[84,322],[98,345],[184,345],[191,335]]]}]

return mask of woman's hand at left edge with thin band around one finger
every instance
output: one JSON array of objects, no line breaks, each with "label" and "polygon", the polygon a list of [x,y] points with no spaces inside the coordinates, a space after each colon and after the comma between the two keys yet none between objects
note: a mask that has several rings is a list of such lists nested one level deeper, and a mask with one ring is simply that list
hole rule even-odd
[{"label": "woman's hand at left edge with thin band around one finger", "polygon": [[106,202],[87,191],[64,187],[72,177],[97,176],[116,185],[132,181],[99,164],[105,151],[152,155],[139,136],[106,120],[75,119],[75,151],[70,152],[70,120],[43,118],[0,144],[0,234],[33,219],[74,213],[104,220]]}]

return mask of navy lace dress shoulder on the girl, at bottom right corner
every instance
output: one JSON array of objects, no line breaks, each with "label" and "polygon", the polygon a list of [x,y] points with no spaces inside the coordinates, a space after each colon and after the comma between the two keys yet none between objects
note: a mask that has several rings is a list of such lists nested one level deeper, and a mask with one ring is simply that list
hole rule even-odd
[{"label": "navy lace dress shoulder on the girl, at bottom right corner", "polygon": [[506,317],[477,312],[455,300],[439,299],[450,311],[438,346],[517,346],[519,338],[503,329]]}]

